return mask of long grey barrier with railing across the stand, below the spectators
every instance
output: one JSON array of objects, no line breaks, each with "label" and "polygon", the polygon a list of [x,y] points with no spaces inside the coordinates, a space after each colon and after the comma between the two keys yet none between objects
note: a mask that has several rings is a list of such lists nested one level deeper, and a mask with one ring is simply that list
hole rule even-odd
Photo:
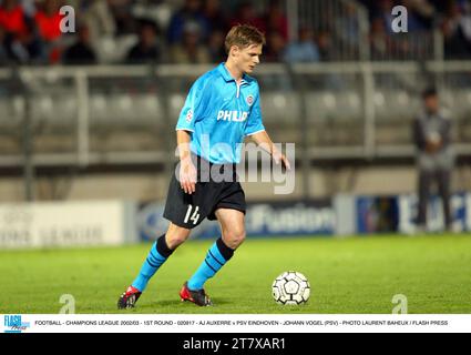
[{"label": "long grey barrier with railing across the stand, below the spectators", "polygon": [[[191,83],[212,65],[0,70],[0,168],[171,164]],[[412,158],[420,91],[438,84],[471,155],[471,63],[264,64],[265,125],[313,160]],[[307,179],[307,176],[306,176]]]}]

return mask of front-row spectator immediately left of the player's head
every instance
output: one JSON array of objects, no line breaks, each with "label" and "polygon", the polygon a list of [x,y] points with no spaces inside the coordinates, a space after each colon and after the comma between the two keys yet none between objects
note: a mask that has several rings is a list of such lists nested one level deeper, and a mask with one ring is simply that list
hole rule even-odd
[{"label": "front-row spectator immediately left of the player's head", "polygon": [[172,63],[201,64],[211,61],[207,48],[201,45],[202,36],[199,27],[187,23],[183,31],[183,39],[171,49]]}]

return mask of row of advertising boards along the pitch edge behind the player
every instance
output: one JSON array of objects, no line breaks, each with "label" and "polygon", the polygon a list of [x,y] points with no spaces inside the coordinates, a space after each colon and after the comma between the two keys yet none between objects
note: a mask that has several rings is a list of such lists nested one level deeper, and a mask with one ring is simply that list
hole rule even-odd
[{"label": "row of advertising boards along the pitch edge behind the player", "polygon": [[[246,231],[250,237],[413,234],[417,196],[338,194],[332,199],[252,201]],[[164,200],[11,203],[0,205],[0,250],[122,245],[154,241],[165,233]],[[471,194],[451,201],[453,232],[471,231]],[[430,200],[428,231],[443,231],[437,196]],[[193,239],[221,235],[217,222],[204,220]]]}]

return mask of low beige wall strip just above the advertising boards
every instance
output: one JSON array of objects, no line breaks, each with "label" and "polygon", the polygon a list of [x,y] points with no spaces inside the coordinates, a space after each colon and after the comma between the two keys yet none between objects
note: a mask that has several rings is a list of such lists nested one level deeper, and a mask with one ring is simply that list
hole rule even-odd
[{"label": "low beige wall strip just above the advertising boards", "polygon": [[[134,201],[163,200],[170,175],[157,172],[81,173],[78,175],[39,175],[35,179],[37,200],[76,201],[90,199],[130,199]],[[416,191],[417,170],[411,165],[395,166],[324,166],[309,172],[309,194],[303,191],[303,174],[296,174],[290,199],[322,199],[337,193],[403,194]],[[285,200],[274,194],[274,183],[244,183],[247,200]],[[454,170],[454,191],[471,191],[471,171],[463,165]],[[24,201],[21,178],[1,178],[3,202]]]}]

